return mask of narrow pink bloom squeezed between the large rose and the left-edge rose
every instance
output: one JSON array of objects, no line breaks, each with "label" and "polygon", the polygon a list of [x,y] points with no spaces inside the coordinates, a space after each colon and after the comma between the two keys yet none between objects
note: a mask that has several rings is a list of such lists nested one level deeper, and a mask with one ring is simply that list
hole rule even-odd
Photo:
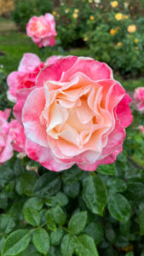
[{"label": "narrow pink bloom squeezed between the large rose and the left-edge rose", "polygon": [[24,153],[26,155],[26,135],[24,132],[24,128],[20,123],[11,119],[10,121],[10,137],[12,138],[12,145],[15,151]]}]

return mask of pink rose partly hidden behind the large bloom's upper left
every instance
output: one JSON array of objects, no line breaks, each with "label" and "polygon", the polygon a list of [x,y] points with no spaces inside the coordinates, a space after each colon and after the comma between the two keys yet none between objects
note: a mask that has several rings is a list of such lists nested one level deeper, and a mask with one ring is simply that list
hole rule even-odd
[{"label": "pink rose partly hidden behind the large bloom's upper left", "polygon": [[45,61],[41,62],[39,57],[34,54],[26,53],[20,61],[18,71],[9,74],[7,84],[9,90],[7,96],[9,101],[16,102],[17,91],[20,89],[29,89],[35,85],[37,74],[45,65],[55,63],[61,56],[52,55]]}]

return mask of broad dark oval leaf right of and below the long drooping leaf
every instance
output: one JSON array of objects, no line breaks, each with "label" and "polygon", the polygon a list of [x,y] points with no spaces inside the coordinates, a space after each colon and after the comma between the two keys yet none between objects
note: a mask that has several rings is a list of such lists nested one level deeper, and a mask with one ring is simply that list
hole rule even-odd
[{"label": "broad dark oval leaf right of and below the long drooping leaf", "polygon": [[129,201],[120,194],[111,195],[108,201],[108,210],[113,218],[127,222],[131,215]]}]

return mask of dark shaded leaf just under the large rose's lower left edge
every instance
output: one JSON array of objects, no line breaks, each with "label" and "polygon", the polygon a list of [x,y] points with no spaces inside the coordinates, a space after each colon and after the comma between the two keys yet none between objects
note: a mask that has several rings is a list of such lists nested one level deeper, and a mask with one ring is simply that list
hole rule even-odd
[{"label": "dark shaded leaf just under the large rose's lower left edge", "polygon": [[37,179],[34,188],[35,195],[39,197],[47,197],[55,195],[61,186],[60,176],[54,172],[46,172]]}]

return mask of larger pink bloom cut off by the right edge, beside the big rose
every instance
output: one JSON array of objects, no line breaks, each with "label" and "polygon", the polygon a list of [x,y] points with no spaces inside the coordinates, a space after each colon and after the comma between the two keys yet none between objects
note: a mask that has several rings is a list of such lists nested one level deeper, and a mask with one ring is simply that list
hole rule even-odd
[{"label": "larger pink bloom cut off by the right edge, beside the big rose", "polygon": [[138,103],[137,108],[139,111],[144,111],[144,87],[138,87],[134,93],[135,102]]}]

